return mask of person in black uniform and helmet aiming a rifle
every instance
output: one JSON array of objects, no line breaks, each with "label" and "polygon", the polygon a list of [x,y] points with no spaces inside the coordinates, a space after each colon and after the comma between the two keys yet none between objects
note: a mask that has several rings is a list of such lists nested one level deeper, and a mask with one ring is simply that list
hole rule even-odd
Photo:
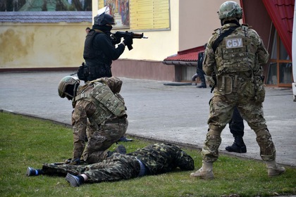
[{"label": "person in black uniform and helmet aiming a rifle", "polygon": [[132,37],[126,37],[123,42],[121,38],[111,39],[112,25],[115,25],[112,15],[101,13],[94,17],[92,30],[85,39],[85,68],[83,73],[78,73],[80,80],[87,82],[101,77],[112,77],[112,61],[121,56],[126,45],[132,45]]}]

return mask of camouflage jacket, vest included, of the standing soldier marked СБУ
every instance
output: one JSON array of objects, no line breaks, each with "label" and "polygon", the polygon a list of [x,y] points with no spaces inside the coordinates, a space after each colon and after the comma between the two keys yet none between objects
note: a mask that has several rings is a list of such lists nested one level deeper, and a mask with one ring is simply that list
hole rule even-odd
[{"label": "camouflage jacket, vest included, of the standing soldier marked \u0421\u0411\u0423", "polygon": [[[226,86],[232,84],[233,87],[239,87],[238,83],[246,81],[257,82],[258,86],[262,86],[260,82],[261,64],[267,63],[269,53],[255,30],[247,25],[240,25],[230,35],[223,38],[216,51],[213,49],[214,42],[219,35],[235,26],[237,26],[235,23],[228,23],[215,30],[206,46],[203,70],[208,76],[216,75],[216,89],[221,87],[221,83],[225,83]],[[230,77],[233,78],[232,82],[227,81]],[[233,87],[228,87],[228,89]],[[214,91],[214,94],[219,94],[219,91]]]}]

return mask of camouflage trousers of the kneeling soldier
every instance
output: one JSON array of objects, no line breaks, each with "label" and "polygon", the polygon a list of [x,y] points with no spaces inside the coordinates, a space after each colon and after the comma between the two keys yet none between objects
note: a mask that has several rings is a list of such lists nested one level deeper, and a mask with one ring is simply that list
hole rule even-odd
[{"label": "camouflage trousers of the kneeling soldier", "polygon": [[105,160],[110,148],[121,138],[128,128],[126,118],[106,121],[99,129],[87,127],[87,145],[82,153],[82,160],[86,163],[98,163]]}]

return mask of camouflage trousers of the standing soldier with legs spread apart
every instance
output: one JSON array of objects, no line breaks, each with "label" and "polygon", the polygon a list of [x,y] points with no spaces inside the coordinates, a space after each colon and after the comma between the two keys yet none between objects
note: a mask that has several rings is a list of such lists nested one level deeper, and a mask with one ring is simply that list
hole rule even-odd
[{"label": "camouflage trousers of the standing soldier with legs spread apart", "polygon": [[266,126],[262,103],[256,103],[254,98],[248,98],[246,95],[242,96],[236,92],[228,95],[216,94],[211,98],[209,129],[202,148],[203,159],[206,162],[215,162],[218,159],[221,132],[230,122],[235,106],[238,107],[242,118],[247,121],[249,127],[256,133],[262,160],[275,160],[276,148]]}]

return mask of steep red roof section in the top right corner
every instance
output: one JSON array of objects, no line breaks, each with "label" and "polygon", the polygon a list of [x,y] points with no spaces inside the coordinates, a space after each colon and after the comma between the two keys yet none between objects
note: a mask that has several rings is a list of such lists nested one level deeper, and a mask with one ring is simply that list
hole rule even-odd
[{"label": "steep red roof section in the top right corner", "polygon": [[278,35],[292,58],[292,27],[294,15],[294,0],[262,0],[267,12],[278,31]]}]

